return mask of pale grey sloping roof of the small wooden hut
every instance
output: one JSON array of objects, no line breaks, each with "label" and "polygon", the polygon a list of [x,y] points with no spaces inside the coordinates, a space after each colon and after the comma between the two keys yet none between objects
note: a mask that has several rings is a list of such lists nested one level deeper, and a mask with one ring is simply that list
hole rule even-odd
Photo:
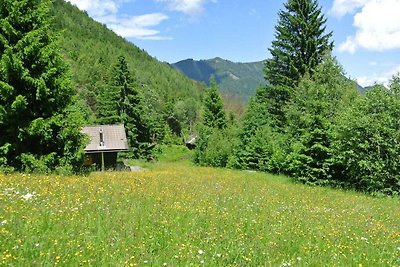
[{"label": "pale grey sloping roof of the small wooden hut", "polygon": [[[100,145],[100,131],[103,132],[103,145]],[[85,147],[86,153],[123,152],[129,150],[123,124],[86,126],[83,127],[82,133],[87,134],[90,138],[90,143]]]}]

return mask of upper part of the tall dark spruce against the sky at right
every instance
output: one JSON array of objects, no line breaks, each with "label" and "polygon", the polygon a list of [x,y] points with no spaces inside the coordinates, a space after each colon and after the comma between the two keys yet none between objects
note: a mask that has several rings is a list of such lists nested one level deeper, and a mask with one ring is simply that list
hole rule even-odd
[{"label": "upper part of the tall dark spruce against the sky at right", "polygon": [[275,40],[266,61],[265,78],[273,86],[296,86],[306,74],[313,74],[327,51],[332,32],[325,33],[324,18],[317,0],[288,0],[279,12]]}]

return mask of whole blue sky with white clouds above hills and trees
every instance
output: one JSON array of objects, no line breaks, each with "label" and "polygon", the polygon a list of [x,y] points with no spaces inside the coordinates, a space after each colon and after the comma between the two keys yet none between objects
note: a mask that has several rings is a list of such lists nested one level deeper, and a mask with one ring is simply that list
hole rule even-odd
[{"label": "whole blue sky with white clouds above hills and trees", "polygon": [[[270,57],[286,0],[68,0],[161,61]],[[400,0],[320,0],[334,55],[361,85],[400,72]]]}]

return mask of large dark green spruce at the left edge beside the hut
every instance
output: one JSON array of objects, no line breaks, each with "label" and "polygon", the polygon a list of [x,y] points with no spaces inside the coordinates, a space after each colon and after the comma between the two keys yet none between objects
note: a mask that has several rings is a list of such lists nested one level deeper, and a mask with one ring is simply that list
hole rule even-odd
[{"label": "large dark green spruce at the left edge beside the hut", "polygon": [[79,120],[66,110],[74,91],[50,28],[50,6],[50,0],[0,0],[0,161],[18,169],[79,165],[82,155]]}]

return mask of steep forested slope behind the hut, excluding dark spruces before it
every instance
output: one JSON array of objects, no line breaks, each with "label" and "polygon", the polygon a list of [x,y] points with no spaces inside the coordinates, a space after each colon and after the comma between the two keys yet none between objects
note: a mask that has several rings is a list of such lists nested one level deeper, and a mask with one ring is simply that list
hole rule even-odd
[{"label": "steep forested slope behind the hut, excluding dark spruces before it", "polygon": [[[115,88],[115,67],[121,57],[141,95],[152,140],[163,138],[169,117],[178,120],[184,131],[195,124],[204,90],[201,84],[149,56],[63,0],[54,1],[50,15],[52,29],[60,32],[58,46],[87,110],[88,124],[112,122],[102,117],[109,112],[107,109],[117,105],[112,102],[113,95],[119,94]],[[117,112],[117,108],[111,112]]]}]

